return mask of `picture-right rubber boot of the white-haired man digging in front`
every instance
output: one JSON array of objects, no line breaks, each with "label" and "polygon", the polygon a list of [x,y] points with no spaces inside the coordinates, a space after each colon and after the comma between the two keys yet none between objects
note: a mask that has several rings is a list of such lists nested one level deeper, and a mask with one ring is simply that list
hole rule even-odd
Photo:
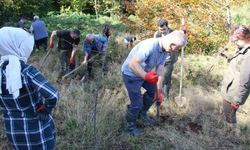
[{"label": "picture-right rubber boot of the white-haired man digging in front", "polygon": [[148,116],[148,110],[151,107],[151,105],[154,103],[153,98],[151,98],[147,93],[143,94],[143,107],[142,111],[140,113],[140,117],[145,125],[148,126],[155,126],[157,125],[157,122]]}]

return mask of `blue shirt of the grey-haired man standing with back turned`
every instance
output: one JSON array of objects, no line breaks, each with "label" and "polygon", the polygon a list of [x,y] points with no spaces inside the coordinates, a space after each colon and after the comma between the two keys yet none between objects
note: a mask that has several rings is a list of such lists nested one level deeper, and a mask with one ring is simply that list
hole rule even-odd
[{"label": "blue shirt of the grey-haired man standing with back turned", "polygon": [[46,25],[42,20],[35,20],[31,25],[31,30],[33,30],[35,40],[48,37]]}]

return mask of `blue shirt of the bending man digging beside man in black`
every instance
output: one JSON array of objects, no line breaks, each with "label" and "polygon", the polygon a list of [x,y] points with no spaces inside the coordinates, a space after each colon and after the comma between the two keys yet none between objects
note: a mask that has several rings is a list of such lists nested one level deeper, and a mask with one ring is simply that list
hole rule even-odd
[{"label": "blue shirt of the bending man digging beside man in black", "polygon": [[94,35],[94,41],[92,43],[85,39],[83,45],[83,51],[85,53],[99,52],[105,54],[108,46],[108,37],[104,35]]}]

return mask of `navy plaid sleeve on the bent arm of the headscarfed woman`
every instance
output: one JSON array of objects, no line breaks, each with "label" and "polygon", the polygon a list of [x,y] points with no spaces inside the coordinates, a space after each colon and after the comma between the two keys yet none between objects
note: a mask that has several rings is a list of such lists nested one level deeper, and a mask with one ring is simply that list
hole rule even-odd
[{"label": "navy plaid sleeve on the bent arm of the headscarfed woman", "polygon": [[59,99],[58,91],[34,67],[32,67],[28,76],[31,79],[32,87],[44,99],[45,106],[49,109],[54,108]]}]

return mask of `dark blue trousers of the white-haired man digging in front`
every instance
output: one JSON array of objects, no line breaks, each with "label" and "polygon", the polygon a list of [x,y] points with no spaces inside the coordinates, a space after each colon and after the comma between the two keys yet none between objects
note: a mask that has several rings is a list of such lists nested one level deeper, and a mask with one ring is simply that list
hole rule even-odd
[{"label": "dark blue trousers of the white-haired man digging in front", "polygon": [[[134,115],[138,115],[142,111],[143,104],[147,104],[148,102],[143,102],[143,96],[141,94],[141,87],[146,90],[146,93],[151,99],[145,100],[152,100],[154,98],[156,86],[149,84],[148,82],[144,81],[140,78],[131,77],[125,74],[122,74],[122,78],[126,89],[128,91],[130,105],[128,109]],[[150,102],[152,105],[152,102]],[[150,106],[151,106],[150,105]]]}]

